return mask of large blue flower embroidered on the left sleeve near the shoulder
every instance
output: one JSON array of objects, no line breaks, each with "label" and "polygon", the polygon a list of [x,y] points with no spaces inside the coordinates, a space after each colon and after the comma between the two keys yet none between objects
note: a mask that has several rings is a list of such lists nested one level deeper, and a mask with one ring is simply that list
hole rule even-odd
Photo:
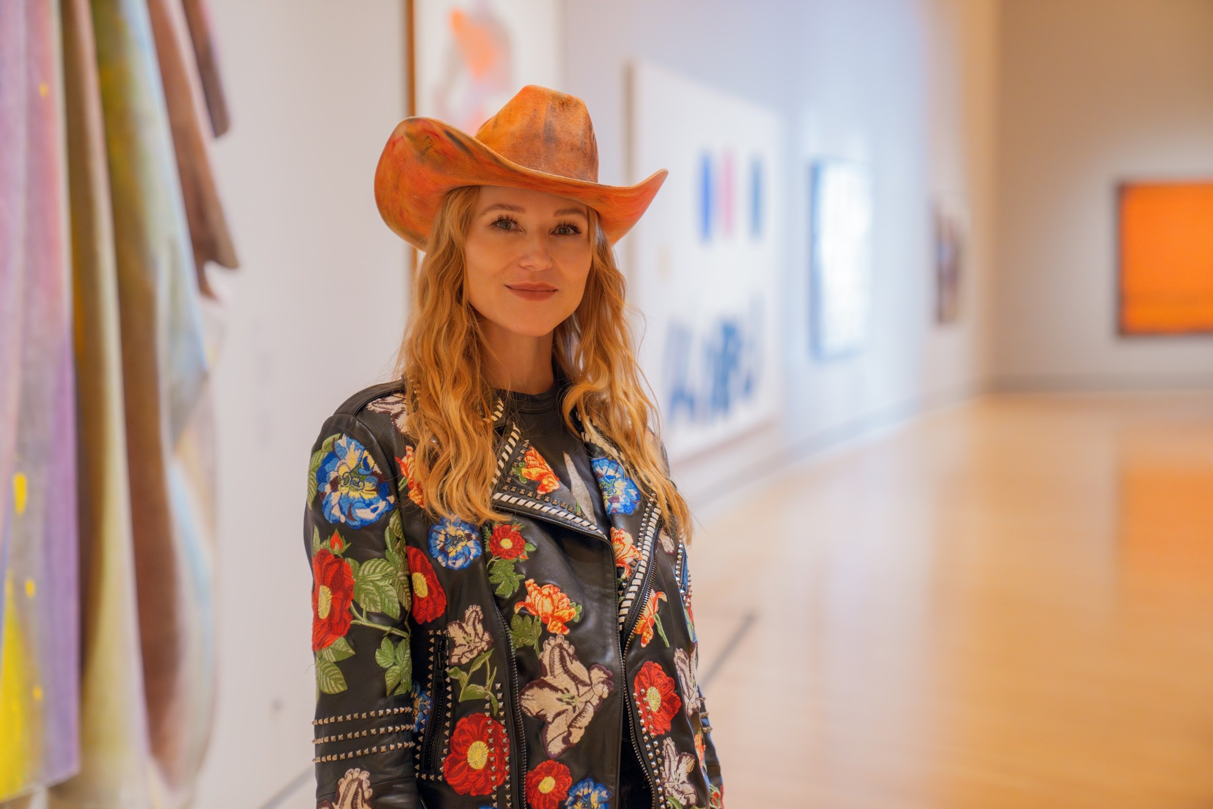
[{"label": "large blue flower embroidered on the left sleeve near the shoulder", "polygon": [[334,441],[320,460],[315,484],[324,494],[324,517],[330,523],[361,528],[392,511],[391,486],[380,477],[375,458],[348,435]]}]

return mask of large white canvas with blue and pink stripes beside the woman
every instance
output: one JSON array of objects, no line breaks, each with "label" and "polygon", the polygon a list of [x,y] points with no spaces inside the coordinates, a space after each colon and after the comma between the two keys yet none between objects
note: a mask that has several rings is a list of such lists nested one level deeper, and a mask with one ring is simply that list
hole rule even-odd
[{"label": "large white canvas with blue and pink stripes beside the woman", "polygon": [[670,176],[630,241],[640,365],[671,460],[778,414],[781,130],[771,110],[650,63],[632,81],[632,181]]}]

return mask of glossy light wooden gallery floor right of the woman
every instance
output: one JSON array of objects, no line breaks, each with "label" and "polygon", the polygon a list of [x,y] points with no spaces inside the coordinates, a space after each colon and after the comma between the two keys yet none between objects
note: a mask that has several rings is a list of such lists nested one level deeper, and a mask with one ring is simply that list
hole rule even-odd
[{"label": "glossy light wooden gallery floor right of the woman", "polygon": [[1213,394],[983,399],[691,553],[730,809],[1213,807]]}]

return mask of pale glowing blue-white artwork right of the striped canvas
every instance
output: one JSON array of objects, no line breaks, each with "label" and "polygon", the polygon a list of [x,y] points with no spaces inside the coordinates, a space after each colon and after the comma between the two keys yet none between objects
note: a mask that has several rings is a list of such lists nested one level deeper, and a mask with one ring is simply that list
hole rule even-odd
[{"label": "pale glowing blue-white artwork right of the striped canvas", "polygon": [[865,164],[822,159],[809,171],[809,323],[819,359],[867,342],[872,287],[872,176]]}]

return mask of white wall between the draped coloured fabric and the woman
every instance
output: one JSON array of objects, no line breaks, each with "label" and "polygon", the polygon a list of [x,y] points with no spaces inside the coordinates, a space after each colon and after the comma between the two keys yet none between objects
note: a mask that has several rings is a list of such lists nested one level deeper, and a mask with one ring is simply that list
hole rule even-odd
[{"label": "white wall between the draped coloured fabric and the woman", "polygon": [[[218,707],[195,805],[254,809],[314,754],[308,450],[383,377],[404,327],[404,243],[372,193],[405,114],[404,21],[398,0],[210,6],[233,121],[215,159],[241,267],[215,378]],[[312,794],[308,779],[287,805]]]}]

